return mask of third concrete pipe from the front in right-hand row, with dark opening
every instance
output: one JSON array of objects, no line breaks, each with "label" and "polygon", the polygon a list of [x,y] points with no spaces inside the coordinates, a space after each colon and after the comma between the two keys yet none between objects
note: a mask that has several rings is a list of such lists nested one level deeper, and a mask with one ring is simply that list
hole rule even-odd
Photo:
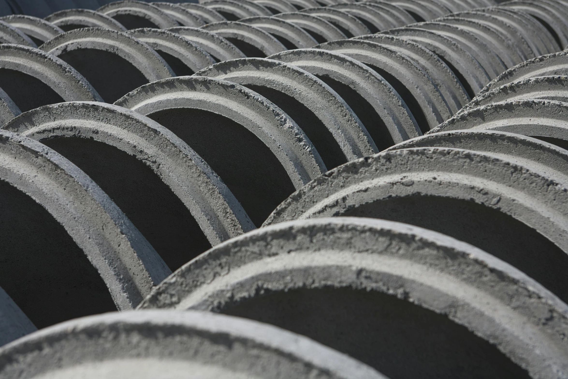
[{"label": "third concrete pipe from the front in right-hand row, with dark opening", "polygon": [[265,225],[340,215],[406,222],[482,248],[566,301],[567,186],[565,175],[549,176],[531,161],[407,148],[331,170],[286,199]]}]

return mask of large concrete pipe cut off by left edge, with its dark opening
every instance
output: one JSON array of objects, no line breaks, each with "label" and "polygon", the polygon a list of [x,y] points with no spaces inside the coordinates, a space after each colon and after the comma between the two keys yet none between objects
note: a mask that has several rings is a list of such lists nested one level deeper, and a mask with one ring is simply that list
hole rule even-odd
[{"label": "large concrete pipe cut off by left edge, with its dark opening", "polygon": [[31,138],[0,131],[0,285],[41,328],[135,307],[170,269],[81,169]]}]

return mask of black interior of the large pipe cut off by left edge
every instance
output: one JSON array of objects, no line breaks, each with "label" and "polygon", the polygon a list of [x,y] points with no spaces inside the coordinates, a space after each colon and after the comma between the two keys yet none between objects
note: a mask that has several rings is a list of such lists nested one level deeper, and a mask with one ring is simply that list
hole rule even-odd
[{"label": "black interior of the large pipe cut off by left edge", "polygon": [[0,286],[37,328],[116,311],[105,282],[65,228],[4,181],[0,239]]}]

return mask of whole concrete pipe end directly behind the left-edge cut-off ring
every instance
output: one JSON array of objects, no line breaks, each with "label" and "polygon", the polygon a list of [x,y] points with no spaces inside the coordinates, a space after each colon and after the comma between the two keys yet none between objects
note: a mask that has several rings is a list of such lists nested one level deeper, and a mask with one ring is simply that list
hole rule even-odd
[{"label": "whole concrete pipe end directly behind the left-edge cut-off ring", "polygon": [[[3,128],[51,146],[90,174],[172,269],[208,248],[199,249],[202,234],[210,247],[254,228],[231,191],[193,149],[130,109],[67,102],[29,111]],[[146,167],[153,175],[145,173]],[[167,197],[168,190],[177,201]],[[149,196],[141,201],[143,192]]]}]

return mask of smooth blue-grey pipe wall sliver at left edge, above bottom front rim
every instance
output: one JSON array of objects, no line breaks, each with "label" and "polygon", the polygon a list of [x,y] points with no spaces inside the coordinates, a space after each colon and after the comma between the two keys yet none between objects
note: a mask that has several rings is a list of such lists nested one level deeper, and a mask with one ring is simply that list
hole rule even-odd
[{"label": "smooth blue-grey pipe wall sliver at left edge, above bottom front rim", "polygon": [[34,323],[10,296],[0,288],[0,346],[35,332]]}]

